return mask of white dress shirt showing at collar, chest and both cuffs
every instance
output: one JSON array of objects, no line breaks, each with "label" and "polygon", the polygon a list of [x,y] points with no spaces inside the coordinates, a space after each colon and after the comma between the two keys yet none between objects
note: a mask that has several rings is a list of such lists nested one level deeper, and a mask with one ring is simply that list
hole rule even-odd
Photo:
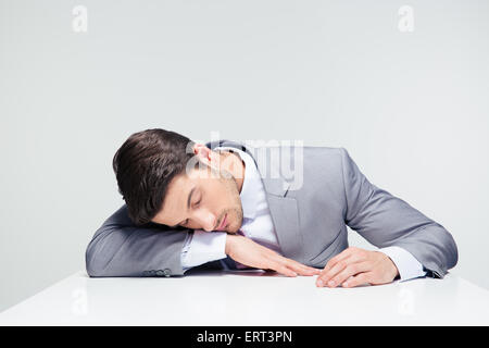
[{"label": "white dress shirt showing at collar, chest and both cuffs", "polygon": [[[283,254],[266,201],[266,191],[253,159],[244,151],[233,147],[217,147],[214,150],[230,150],[237,153],[246,164],[243,184],[239,194],[243,213],[240,233]],[[196,229],[193,234],[189,233],[181,251],[184,271],[210,261],[226,259],[226,235],[225,232],[210,233],[202,229]],[[378,251],[392,260],[399,270],[401,281],[426,275],[419,261],[405,249],[392,246],[380,248]],[[242,266],[239,263],[237,265]]]}]

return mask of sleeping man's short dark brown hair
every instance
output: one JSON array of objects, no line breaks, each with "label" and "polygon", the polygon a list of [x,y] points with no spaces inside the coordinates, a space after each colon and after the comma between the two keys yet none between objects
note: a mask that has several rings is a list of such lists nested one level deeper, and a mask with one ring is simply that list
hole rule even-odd
[{"label": "sleeping man's short dark brown hair", "polygon": [[171,130],[147,129],[133,134],[112,161],[118,191],[136,225],[149,223],[163,206],[170,182],[185,172],[195,142]]}]

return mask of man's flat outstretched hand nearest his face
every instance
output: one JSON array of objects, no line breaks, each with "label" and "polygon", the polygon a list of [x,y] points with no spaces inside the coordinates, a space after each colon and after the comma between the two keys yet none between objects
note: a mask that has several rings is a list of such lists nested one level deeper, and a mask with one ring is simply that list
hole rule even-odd
[{"label": "man's flat outstretched hand nearest his face", "polygon": [[239,235],[228,234],[226,236],[226,254],[250,268],[274,270],[287,276],[316,275],[321,273],[321,270],[284,258],[250,238]]}]

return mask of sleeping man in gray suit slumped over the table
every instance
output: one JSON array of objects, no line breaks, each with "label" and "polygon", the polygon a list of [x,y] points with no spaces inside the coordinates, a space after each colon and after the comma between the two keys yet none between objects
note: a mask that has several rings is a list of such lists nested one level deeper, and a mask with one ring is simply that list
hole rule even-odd
[{"label": "sleeping man in gray suit slumped over the table", "polygon": [[[125,204],[88,245],[90,276],[252,268],[354,287],[442,278],[457,262],[451,234],[343,148],[203,145],[156,128],[133,134],[113,169]],[[349,248],[347,226],[378,249]]]}]

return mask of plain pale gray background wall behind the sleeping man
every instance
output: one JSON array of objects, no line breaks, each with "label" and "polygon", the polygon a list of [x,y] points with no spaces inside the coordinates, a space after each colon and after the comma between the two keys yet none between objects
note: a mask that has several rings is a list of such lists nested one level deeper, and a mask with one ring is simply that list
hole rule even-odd
[{"label": "plain pale gray background wall behind the sleeping man", "polygon": [[0,310],[84,268],[151,127],[346,147],[489,288],[487,62],[488,1],[0,0]]}]

